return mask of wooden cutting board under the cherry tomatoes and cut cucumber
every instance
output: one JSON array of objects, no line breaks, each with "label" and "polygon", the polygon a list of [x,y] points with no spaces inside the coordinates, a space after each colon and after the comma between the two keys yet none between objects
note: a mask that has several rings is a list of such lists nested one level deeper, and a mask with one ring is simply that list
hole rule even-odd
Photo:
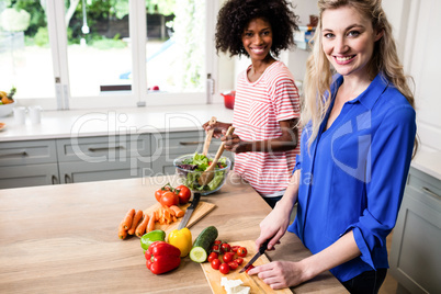
[{"label": "wooden cutting board under the cherry tomatoes and cut cucumber", "polygon": [[[285,294],[290,293],[292,294],[293,292],[290,289],[281,289],[281,290],[272,290],[269,285],[263,283],[262,280],[260,280],[257,275],[248,275],[248,273],[242,272],[239,273],[239,271],[250,261],[250,259],[256,255],[256,244],[252,240],[247,240],[247,241],[237,241],[237,242],[229,242],[230,246],[239,245],[244,246],[248,250],[248,255],[244,258],[244,263],[240,264],[236,270],[230,271],[228,274],[222,274],[218,270],[212,269],[212,265],[210,262],[204,262],[201,263],[202,269],[205,273],[205,278],[210,283],[210,287],[212,289],[212,292],[214,294],[222,294],[222,293],[227,293],[225,289],[220,285],[220,279],[223,276],[227,278],[228,280],[241,280],[244,282],[242,286],[249,286],[250,287],[250,294],[257,294],[257,293],[278,293],[278,294]],[[269,263],[270,260],[265,255],[260,256],[258,260],[253,263],[253,265],[261,265],[264,263]]]}]

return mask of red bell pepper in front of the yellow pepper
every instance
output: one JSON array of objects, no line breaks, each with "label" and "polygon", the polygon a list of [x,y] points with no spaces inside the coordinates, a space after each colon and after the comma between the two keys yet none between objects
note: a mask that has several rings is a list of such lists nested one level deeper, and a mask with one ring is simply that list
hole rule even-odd
[{"label": "red bell pepper in front of the yellow pepper", "polygon": [[145,257],[147,269],[155,274],[171,271],[181,264],[181,250],[165,241],[152,242]]}]

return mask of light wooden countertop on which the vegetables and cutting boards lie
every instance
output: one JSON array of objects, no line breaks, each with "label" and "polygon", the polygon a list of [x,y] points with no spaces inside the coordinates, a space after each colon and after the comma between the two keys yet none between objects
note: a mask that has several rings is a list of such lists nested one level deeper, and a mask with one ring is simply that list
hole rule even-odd
[{"label": "light wooden countertop on which the vegetables and cutting boards lie", "polygon": [[[171,179],[173,182],[174,179]],[[129,208],[156,203],[154,191],[170,178],[59,184],[0,190],[0,292],[2,293],[211,293],[201,265],[189,258],[169,273],[154,275],[137,237],[117,238]],[[216,208],[191,231],[210,225],[219,239],[255,240],[270,206],[230,172],[219,192],[202,201]],[[287,233],[272,260],[301,260],[310,252]],[[294,293],[344,293],[330,272]]]}]

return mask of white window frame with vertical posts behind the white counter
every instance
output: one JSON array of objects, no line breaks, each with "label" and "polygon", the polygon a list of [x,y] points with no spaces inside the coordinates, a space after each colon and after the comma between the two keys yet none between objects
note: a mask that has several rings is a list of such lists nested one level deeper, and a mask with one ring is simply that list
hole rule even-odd
[{"label": "white window frame with vertical posts behind the white counter", "polygon": [[[106,91],[94,97],[71,97],[69,91],[68,43],[65,24],[65,1],[47,0],[47,27],[54,67],[55,95],[53,98],[22,98],[22,105],[42,105],[45,110],[112,109],[157,106],[169,104],[205,104],[213,102],[217,81],[217,64],[213,36],[218,10],[217,1],[206,1],[205,71],[211,76],[205,92],[147,92],[146,70],[146,5],[145,1],[129,0],[129,35],[132,39],[132,91]],[[134,37],[132,37],[134,36]],[[213,84],[210,84],[212,82]],[[211,91],[213,89],[213,91]],[[208,91],[210,90],[210,91]]]}]

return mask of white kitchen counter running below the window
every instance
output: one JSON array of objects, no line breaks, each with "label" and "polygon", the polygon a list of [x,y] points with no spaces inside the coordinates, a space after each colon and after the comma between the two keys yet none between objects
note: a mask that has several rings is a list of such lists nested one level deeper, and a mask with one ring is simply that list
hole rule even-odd
[{"label": "white kitchen counter running below the window", "polygon": [[233,111],[223,104],[44,111],[36,125],[30,117],[25,125],[16,125],[13,116],[0,117],[7,125],[0,142],[195,131],[212,116],[233,122]]}]

